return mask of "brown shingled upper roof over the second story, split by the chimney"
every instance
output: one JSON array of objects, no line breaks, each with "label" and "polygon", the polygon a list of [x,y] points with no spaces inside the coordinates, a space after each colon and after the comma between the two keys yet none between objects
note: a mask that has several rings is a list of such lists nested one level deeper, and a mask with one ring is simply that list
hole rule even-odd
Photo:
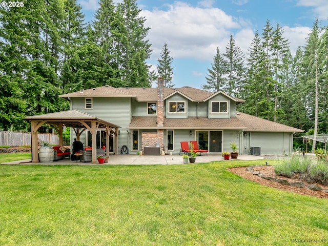
[{"label": "brown shingled upper roof over the second story, split by the chimney", "polygon": [[[164,99],[169,98],[174,94],[180,94],[191,101],[207,101],[213,96],[221,93],[228,98],[241,103],[244,100],[237,99],[219,91],[217,93],[196,89],[193,87],[185,86],[181,88],[163,88]],[[127,87],[127,88],[114,88],[112,86],[101,86],[93,89],[81,90],[72,92],[60,97],[133,97],[137,101],[157,101],[157,88],[141,88],[141,87]]]}]

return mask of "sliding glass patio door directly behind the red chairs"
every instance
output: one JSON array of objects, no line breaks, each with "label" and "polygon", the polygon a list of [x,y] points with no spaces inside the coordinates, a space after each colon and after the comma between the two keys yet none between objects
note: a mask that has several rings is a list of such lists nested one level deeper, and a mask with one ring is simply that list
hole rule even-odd
[{"label": "sliding glass patio door directly behind the red chairs", "polygon": [[222,131],[196,131],[196,140],[202,150],[222,152]]}]

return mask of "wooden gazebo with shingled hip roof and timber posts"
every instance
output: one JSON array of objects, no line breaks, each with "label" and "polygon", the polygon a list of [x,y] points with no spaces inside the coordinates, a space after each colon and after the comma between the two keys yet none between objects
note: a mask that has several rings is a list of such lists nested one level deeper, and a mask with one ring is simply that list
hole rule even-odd
[{"label": "wooden gazebo with shingled hip roof and timber posts", "polygon": [[[96,134],[99,128],[106,128],[106,146],[109,146],[109,135],[112,131],[115,137],[114,154],[117,155],[117,129],[121,128],[106,120],[99,119],[90,114],[86,114],[79,110],[68,110],[57,113],[39,114],[25,117],[26,120],[31,122],[31,140],[32,140],[32,163],[39,162],[38,159],[38,137],[37,130],[44,124],[52,125],[59,135],[59,145],[63,145],[63,126],[73,128],[76,139],[79,141],[81,133],[89,130],[92,135],[92,146],[96,146]],[[92,148],[92,162],[97,163],[96,148]],[[109,148],[106,149],[106,155],[109,156]]]}]

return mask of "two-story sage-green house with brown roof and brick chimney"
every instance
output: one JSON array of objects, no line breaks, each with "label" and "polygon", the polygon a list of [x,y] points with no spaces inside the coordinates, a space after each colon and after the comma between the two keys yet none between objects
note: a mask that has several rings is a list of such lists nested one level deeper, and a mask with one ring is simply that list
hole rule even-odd
[{"label": "two-story sage-green house with brown roof and brick chimney", "polygon": [[[110,152],[124,145],[131,154],[145,146],[178,154],[180,141],[197,140],[200,149],[209,153],[231,151],[235,142],[239,154],[250,154],[260,147],[261,154],[289,154],[293,151],[293,134],[302,130],[236,111],[243,100],[219,91],[212,93],[192,87],[114,88],[103,86],[81,90],[61,97],[70,101],[71,110],[79,110],[120,126],[118,139],[110,134]],[[72,131],[73,132],[73,131]],[[74,132],[71,139],[74,139]],[[117,140],[117,141],[116,141]],[[91,133],[80,136],[91,145]],[[117,142],[117,144],[115,144]],[[105,130],[97,132],[97,147],[106,145]],[[117,146],[115,146],[117,145]],[[115,152],[116,152],[115,151]]]}]

